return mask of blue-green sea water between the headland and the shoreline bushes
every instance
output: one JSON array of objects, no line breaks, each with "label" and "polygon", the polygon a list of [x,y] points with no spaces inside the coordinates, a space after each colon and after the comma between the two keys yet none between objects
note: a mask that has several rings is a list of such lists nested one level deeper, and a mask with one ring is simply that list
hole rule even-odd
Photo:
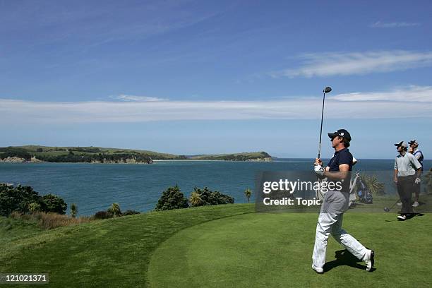
[{"label": "blue-green sea water between the headland and the shoreline bushes", "polygon": [[[353,170],[388,171],[394,160],[359,160]],[[195,186],[207,186],[246,203],[263,171],[310,170],[311,159],[274,162],[162,161],[155,164],[0,163],[0,182],[32,186],[41,195],[53,193],[78,205],[78,215],[92,215],[119,203],[121,210],[153,210],[162,191],[179,185],[190,196]],[[424,162],[425,171],[432,160]],[[387,177],[386,177],[387,178]],[[380,179],[391,183],[392,179]],[[253,200],[253,199],[252,199]]]}]

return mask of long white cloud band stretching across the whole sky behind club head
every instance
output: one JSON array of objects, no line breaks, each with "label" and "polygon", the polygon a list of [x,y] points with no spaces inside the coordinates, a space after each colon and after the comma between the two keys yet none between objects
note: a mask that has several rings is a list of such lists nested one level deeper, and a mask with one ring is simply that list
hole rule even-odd
[{"label": "long white cloud band stretching across the whole sky behind club head", "polygon": [[[0,99],[1,124],[318,119],[322,98],[271,101],[34,102]],[[432,86],[329,95],[328,119],[432,116]]]}]

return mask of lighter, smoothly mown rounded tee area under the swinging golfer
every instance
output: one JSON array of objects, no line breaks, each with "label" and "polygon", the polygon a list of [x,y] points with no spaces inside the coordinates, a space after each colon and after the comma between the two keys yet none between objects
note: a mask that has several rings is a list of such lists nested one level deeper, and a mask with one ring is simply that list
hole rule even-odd
[{"label": "lighter, smoothly mown rounded tee area under the swinging golfer", "polygon": [[[184,229],[150,262],[151,287],[428,287],[431,220],[347,214],[344,227],[376,250],[376,270],[330,239],[324,275],[311,269],[317,215],[253,213]],[[428,247],[425,249],[425,247]],[[337,260],[335,253],[344,256]],[[169,269],[167,269],[169,268]]]}]

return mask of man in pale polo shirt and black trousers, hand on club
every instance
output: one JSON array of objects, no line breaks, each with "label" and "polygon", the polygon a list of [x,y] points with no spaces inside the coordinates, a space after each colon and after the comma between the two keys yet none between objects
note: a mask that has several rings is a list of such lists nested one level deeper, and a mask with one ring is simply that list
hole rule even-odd
[{"label": "man in pale polo shirt and black trousers, hand on club", "polygon": [[393,181],[402,202],[402,209],[397,220],[404,221],[414,216],[411,205],[412,191],[420,184],[421,164],[414,155],[408,153],[408,145],[404,141],[395,144],[399,155],[395,158]]}]

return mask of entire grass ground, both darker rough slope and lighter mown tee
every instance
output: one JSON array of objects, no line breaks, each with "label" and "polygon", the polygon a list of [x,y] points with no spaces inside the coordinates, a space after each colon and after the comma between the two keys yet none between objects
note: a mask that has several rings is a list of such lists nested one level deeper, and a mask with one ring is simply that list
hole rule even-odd
[{"label": "entire grass ground, both darker rough slope and lighter mown tee", "polygon": [[[376,250],[373,272],[330,239],[327,271],[317,275],[310,266],[318,215],[254,213],[252,204],[150,212],[44,232],[22,222],[6,232],[8,225],[0,224],[0,240],[7,242],[0,271],[48,272],[52,287],[429,287],[430,216],[407,222],[395,216],[344,217],[344,228]],[[337,260],[335,253],[343,255]]]}]

